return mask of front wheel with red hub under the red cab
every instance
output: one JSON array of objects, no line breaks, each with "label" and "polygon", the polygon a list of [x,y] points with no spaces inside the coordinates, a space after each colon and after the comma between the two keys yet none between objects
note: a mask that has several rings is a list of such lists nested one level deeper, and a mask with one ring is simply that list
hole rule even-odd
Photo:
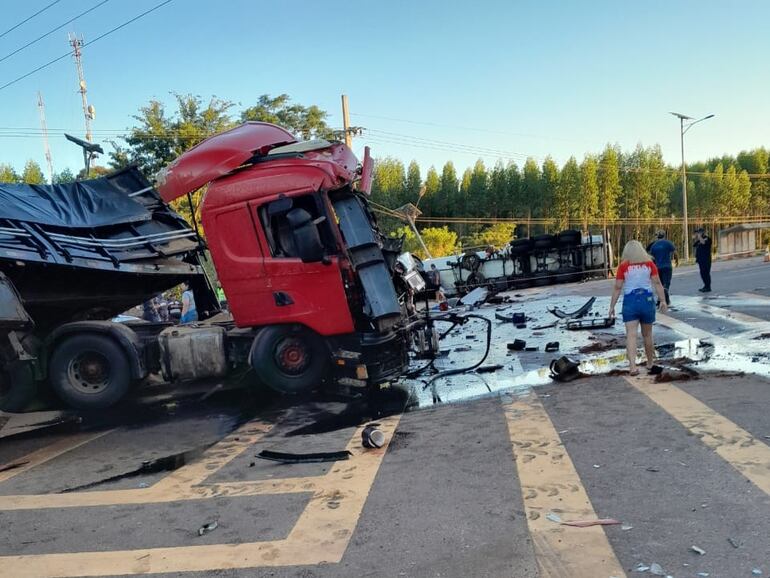
[{"label": "front wheel with red hub under the red cab", "polygon": [[280,393],[303,393],[321,385],[329,354],[315,333],[288,325],[265,327],[251,346],[251,367]]}]

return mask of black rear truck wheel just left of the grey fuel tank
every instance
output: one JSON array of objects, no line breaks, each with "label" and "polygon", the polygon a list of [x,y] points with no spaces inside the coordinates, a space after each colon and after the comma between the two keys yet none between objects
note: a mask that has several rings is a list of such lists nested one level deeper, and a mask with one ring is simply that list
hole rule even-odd
[{"label": "black rear truck wheel just left of the grey fuel tank", "polygon": [[103,335],[75,335],[62,341],[51,356],[48,376],[56,395],[77,409],[110,407],[131,385],[126,354]]}]

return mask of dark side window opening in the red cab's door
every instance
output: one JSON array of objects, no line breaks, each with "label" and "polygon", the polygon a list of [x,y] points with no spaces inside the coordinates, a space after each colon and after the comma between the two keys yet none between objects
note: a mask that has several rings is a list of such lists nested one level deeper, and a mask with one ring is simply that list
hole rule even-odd
[{"label": "dark side window opening in the red cab's door", "polygon": [[[259,208],[260,222],[265,231],[265,237],[270,245],[270,253],[273,257],[290,259],[298,258],[297,248],[294,246],[292,226],[287,215],[292,209],[307,211],[312,220],[325,216],[321,200],[313,195],[299,197],[283,197]],[[318,232],[328,253],[334,252],[334,241],[327,219],[318,223]]]}]

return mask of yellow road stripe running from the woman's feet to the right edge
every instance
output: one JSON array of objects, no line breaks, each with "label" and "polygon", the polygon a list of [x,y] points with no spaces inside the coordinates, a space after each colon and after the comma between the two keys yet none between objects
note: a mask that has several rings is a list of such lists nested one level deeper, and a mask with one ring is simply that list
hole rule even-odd
[{"label": "yellow road stripe running from the woman's feet to the right edge", "polygon": [[770,447],[671,383],[655,383],[650,378],[627,381],[770,494]]}]

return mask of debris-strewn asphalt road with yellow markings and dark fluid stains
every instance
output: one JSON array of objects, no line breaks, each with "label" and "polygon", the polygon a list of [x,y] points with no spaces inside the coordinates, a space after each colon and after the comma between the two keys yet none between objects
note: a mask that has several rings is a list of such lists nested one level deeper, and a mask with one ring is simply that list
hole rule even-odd
[{"label": "debris-strewn asphalt road with yellow markings and dark fluid stains", "polygon": [[[486,394],[407,412],[400,388],[370,406],[236,392],[2,439],[0,576],[620,578],[653,563],[675,578],[768,576],[770,360],[755,338],[770,332],[770,264],[715,263],[713,277],[704,299],[697,272],[677,270],[676,310],[656,329],[680,349],[709,343],[698,379],[606,366],[510,387],[504,373]],[[525,296],[600,308],[610,290]],[[462,384],[441,387],[449,399]],[[372,420],[380,450],[361,447]],[[287,465],[263,449],[352,455]],[[561,523],[604,518],[620,524]]]}]

